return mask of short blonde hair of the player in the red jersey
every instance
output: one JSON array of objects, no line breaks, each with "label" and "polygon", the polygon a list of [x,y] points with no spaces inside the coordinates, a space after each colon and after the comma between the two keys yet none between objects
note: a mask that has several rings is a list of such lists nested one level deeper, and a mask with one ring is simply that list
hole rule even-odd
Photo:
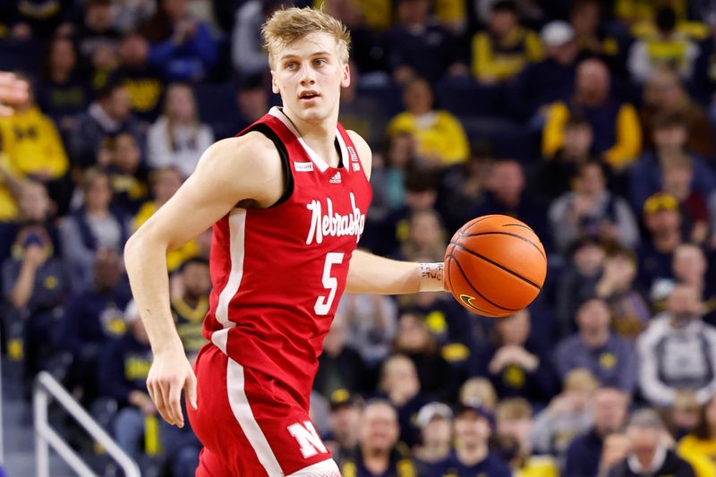
[{"label": "short blonde hair of the player in the red jersey", "polygon": [[348,63],[351,34],[345,25],[321,10],[293,7],[278,10],[261,27],[263,46],[268,51],[268,64],[273,68],[280,50],[311,33],[320,32],[328,33],[336,39],[338,57],[341,62]]}]

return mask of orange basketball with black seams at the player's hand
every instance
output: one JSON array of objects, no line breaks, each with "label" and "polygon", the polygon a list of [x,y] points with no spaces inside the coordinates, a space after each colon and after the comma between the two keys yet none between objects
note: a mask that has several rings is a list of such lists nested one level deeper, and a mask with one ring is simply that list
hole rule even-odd
[{"label": "orange basketball with black seams at the player's hand", "polygon": [[516,218],[477,217],[447,245],[445,272],[457,302],[482,316],[516,313],[540,293],[547,256],[540,238]]}]

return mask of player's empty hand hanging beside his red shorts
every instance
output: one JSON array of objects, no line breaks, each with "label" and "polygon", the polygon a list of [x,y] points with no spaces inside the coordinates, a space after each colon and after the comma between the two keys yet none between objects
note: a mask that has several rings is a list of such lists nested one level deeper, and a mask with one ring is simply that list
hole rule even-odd
[{"label": "player's empty hand hanging beside his red shorts", "polygon": [[182,389],[188,404],[196,409],[196,375],[181,346],[154,354],[147,389],[162,418],[173,426],[184,427]]}]

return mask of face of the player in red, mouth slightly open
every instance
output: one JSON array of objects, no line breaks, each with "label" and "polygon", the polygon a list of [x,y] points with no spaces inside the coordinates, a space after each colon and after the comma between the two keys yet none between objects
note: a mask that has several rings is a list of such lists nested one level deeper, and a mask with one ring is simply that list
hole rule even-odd
[{"label": "face of the player in red, mouth slightly open", "polygon": [[272,88],[290,113],[309,122],[337,117],[340,89],[350,84],[350,74],[335,38],[311,33],[277,52],[274,61]]}]

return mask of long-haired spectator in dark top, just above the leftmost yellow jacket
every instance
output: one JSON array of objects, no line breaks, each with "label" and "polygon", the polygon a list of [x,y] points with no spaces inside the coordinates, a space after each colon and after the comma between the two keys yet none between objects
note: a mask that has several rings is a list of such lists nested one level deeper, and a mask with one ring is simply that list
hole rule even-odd
[{"label": "long-haired spectator in dark top, just above the leftmost yellow jacket", "polygon": [[90,83],[81,73],[79,51],[72,38],[55,36],[47,46],[40,67],[38,105],[49,115],[60,132],[72,131],[75,116],[90,104]]}]

